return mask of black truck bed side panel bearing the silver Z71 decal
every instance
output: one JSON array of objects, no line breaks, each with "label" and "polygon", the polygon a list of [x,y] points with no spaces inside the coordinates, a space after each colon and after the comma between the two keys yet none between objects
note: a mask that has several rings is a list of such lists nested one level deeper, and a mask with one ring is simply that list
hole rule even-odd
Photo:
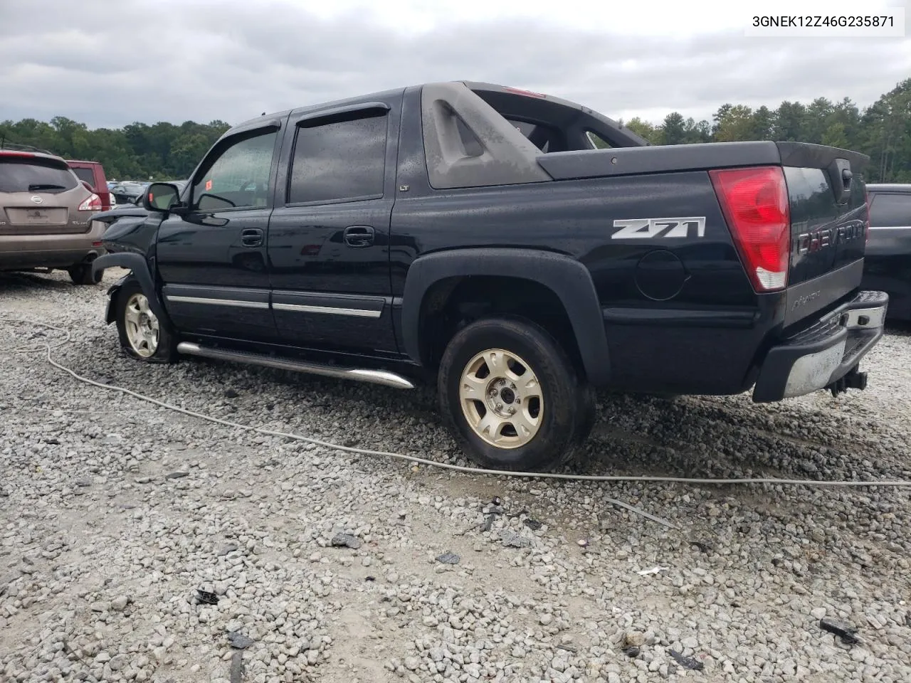
[{"label": "black truck bed side panel bearing the silver Z71 decal", "polygon": [[[704,229],[617,237],[637,219],[674,218]],[[782,295],[752,291],[704,171],[400,194],[392,225],[394,297],[410,263],[439,250],[521,247],[581,261],[602,307],[611,385],[626,391],[742,392],[783,316]]]}]

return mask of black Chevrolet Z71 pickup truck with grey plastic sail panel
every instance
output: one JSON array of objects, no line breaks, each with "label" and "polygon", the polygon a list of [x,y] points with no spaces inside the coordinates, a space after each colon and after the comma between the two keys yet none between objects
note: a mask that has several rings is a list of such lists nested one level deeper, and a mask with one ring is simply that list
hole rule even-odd
[{"label": "black Chevrolet Z71 pickup truck with grey plastic sail panel", "polygon": [[[867,158],[649,146],[587,107],[436,83],[230,129],[183,189],[101,214],[128,353],[437,385],[477,463],[542,471],[594,387],[863,389]],[[128,212],[129,214],[130,212]]]}]

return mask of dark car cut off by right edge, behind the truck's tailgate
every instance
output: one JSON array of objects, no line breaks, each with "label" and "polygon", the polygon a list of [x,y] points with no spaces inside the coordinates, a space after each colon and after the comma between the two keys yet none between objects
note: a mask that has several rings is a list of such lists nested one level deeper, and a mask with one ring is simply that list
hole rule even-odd
[{"label": "dark car cut off by right edge, behind the truck's tailgate", "polygon": [[870,239],[865,289],[889,295],[889,320],[911,321],[911,184],[867,185]]}]

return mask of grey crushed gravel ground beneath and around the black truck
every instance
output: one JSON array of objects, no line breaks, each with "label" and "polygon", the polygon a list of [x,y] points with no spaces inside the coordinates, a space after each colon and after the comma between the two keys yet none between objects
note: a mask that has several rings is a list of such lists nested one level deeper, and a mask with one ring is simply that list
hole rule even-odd
[{"label": "grey crushed gravel ground beneath and around the black truck", "polygon": [[[56,359],[98,381],[467,464],[429,392],[129,360],[105,289],[0,275],[4,681],[911,680],[907,489],[449,473],[204,422],[15,352],[63,339],[11,318],[44,321],[72,334]],[[867,391],[837,399],[602,396],[568,471],[911,479],[911,335],[865,369]]]}]

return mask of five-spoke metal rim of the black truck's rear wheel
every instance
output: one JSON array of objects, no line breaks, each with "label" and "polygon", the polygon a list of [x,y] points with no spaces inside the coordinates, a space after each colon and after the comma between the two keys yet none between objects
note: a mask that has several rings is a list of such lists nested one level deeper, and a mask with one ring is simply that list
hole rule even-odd
[{"label": "five-spoke metal rim of the black truck's rear wheel", "polygon": [[519,448],[535,438],[544,417],[537,375],[519,355],[487,349],[467,362],[459,403],[468,426],[497,448]]}]

